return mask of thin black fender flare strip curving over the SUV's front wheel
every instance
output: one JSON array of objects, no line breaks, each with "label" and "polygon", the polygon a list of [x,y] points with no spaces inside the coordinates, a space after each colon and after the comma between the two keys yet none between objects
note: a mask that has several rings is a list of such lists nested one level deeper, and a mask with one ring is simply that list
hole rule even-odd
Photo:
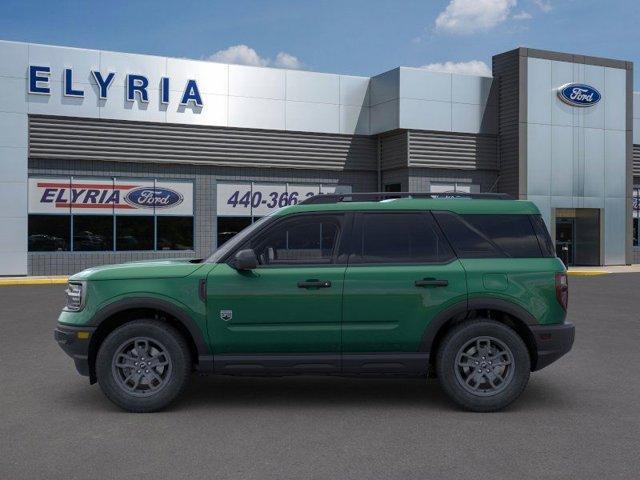
[{"label": "thin black fender flare strip curving over the SUV's front wheel", "polygon": [[153,310],[161,310],[168,313],[172,317],[175,317],[189,332],[193,343],[196,346],[196,353],[198,354],[199,369],[207,370],[209,365],[213,366],[213,356],[209,349],[207,342],[205,341],[204,332],[198,326],[198,324],[191,318],[191,316],[185,312],[182,308],[174,305],[166,300],[161,300],[153,297],[127,297],[121,300],[105,305],[98,310],[88,325],[99,327],[100,324],[107,318],[125,310],[132,310],[136,308],[149,308]]}]

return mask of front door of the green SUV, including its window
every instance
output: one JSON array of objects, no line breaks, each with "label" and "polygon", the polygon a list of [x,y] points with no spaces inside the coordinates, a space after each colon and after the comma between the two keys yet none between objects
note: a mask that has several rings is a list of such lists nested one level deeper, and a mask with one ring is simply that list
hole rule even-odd
[{"label": "front door of the green SUV, including its window", "polygon": [[[346,267],[338,262],[337,251],[343,220],[341,214],[286,216],[238,248],[254,249],[258,268],[238,271],[226,263],[216,265],[207,279],[214,360],[220,355],[268,354],[253,364],[339,369]],[[274,354],[300,358],[290,358],[288,364],[287,358]],[[319,367],[329,355],[328,363]]]}]

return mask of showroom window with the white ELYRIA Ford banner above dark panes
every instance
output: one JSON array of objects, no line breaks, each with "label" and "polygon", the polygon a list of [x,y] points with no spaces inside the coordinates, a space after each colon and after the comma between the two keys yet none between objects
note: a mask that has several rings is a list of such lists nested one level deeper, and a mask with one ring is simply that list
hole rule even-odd
[{"label": "showroom window with the white ELYRIA Ford banner above dark panes", "polygon": [[193,183],[29,178],[29,251],[193,250]]}]

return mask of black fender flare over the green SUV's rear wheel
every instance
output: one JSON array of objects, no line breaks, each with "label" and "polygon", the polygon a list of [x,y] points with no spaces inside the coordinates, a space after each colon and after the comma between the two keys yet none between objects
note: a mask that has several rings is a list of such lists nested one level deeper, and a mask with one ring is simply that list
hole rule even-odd
[{"label": "black fender flare over the green SUV's rear wheel", "polygon": [[429,325],[427,325],[427,327],[425,328],[424,333],[422,334],[422,340],[420,341],[420,351],[431,351],[431,346],[433,345],[436,335],[444,326],[444,324],[447,323],[451,318],[463,313],[467,313],[471,310],[479,309],[500,310],[501,312],[508,313],[512,317],[518,319],[526,326],[538,325],[538,320],[533,315],[531,315],[520,305],[517,305],[513,302],[491,297],[472,298],[467,301],[455,303],[450,307],[445,308],[435,317],[433,317]]}]

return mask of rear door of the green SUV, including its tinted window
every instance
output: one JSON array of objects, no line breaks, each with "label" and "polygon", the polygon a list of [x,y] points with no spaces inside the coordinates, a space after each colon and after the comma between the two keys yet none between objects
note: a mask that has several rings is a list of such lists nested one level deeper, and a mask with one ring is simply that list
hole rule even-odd
[{"label": "rear door of the green SUV, including its tinted window", "polygon": [[465,302],[460,261],[430,212],[355,217],[343,295],[345,372],[426,369],[420,342],[431,319]]}]

